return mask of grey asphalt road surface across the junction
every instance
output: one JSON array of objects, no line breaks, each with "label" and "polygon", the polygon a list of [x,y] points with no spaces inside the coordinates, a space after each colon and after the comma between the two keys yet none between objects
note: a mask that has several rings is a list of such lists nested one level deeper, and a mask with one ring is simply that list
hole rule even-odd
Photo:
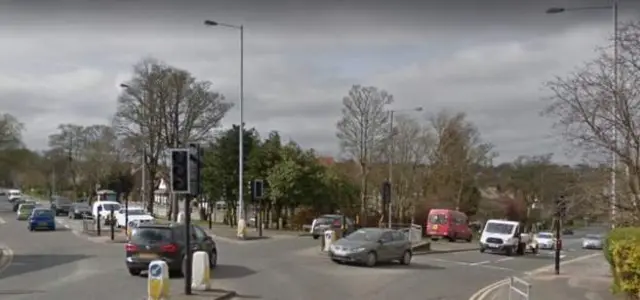
[{"label": "grey asphalt road surface across the junction", "polygon": [[[122,244],[92,242],[77,232],[79,221],[66,218],[59,219],[59,231],[31,233],[3,205],[0,245],[10,247],[14,257],[0,271],[0,298],[144,298],[146,278],[127,273]],[[235,290],[238,299],[466,300],[490,283],[553,263],[551,252],[506,257],[472,251],[416,256],[410,266],[370,269],[331,262],[310,237],[217,242],[220,258],[213,286]],[[564,259],[584,254],[579,246],[577,239],[565,241]],[[181,292],[183,280],[172,280],[172,288]]]}]

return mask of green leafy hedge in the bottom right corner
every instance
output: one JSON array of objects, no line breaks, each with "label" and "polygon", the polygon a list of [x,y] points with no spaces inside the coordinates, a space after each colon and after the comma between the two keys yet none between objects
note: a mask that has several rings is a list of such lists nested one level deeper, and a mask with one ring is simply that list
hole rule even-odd
[{"label": "green leafy hedge in the bottom right corner", "polygon": [[612,290],[628,299],[640,299],[640,227],[612,230],[604,246],[613,275]]}]

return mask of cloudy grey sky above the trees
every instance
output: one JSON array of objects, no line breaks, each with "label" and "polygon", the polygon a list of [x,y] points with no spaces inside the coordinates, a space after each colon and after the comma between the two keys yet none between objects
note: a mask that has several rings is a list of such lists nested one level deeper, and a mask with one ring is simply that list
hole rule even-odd
[{"label": "cloudy grey sky above the trees", "polygon": [[[394,110],[465,112],[498,162],[552,152],[570,162],[544,82],[595,58],[612,34],[611,10],[549,15],[549,7],[609,0],[1,0],[0,111],[46,149],[60,123],[109,124],[132,66],[153,57],[209,80],[235,103],[239,32],[245,27],[245,123],[324,155],[336,138],[342,98],[354,84],[394,95]],[[640,1],[620,0],[621,21]]]}]

